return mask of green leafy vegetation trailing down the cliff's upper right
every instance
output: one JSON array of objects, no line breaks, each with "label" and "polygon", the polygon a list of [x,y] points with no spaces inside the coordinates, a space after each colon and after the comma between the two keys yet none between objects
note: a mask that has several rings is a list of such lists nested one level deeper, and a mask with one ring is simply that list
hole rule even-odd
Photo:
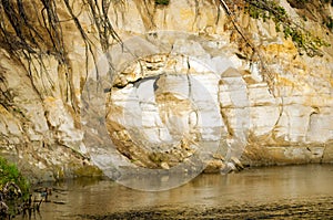
[{"label": "green leafy vegetation trailing down the cliff's upper right", "polygon": [[[275,22],[276,31],[283,32],[284,38],[291,38],[299,48],[300,53],[305,51],[310,56],[322,55],[321,46],[329,46],[324,40],[313,35],[306,31],[301,24],[292,21],[287,15],[285,9],[272,0],[245,0],[248,6],[246,12],[254,19],[262,19],[266,21],[272,19]],[[302,3],[307,0],[299,0]],[[333,24],[327,24],[333,25]]]}]

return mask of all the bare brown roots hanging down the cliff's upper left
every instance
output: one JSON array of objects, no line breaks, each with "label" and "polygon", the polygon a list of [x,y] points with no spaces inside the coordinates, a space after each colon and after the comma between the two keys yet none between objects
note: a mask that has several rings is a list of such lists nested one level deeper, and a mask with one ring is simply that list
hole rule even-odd
[{"label": "all the bare brown roots hanging down the cliff's upper left", "polygon": [[[122,43],[108,17],[111,2],[112,0],[102,0],[101,2],[87,0],[82,3],[87,6],[85,9],[89,10],[88,12],[92,17],[103,52],[107,52],[110,45],[114,43],[111,40]],[[61,74],[64,75],[67,82],[63,97],[67,98],[67,102],[71,102],[73,111],[78,113],[79,101],[75,96],[73,73],[68,57],[69,45],[64,43],[62,21],[59,18],[59,9],[62,3],[65,6],[85,44],[85,70],[88,74],[89,53],[93,59],[93,63],[97,64],[95,54],[92,51],[93,43],[74,14],[73,2],[70,2],[70,0],[63,0],[62,2],[56,0],[0,0],[0,48],[7,50],[12,57],[16,57],[26,67],[31,84],[41,99],[43,99],[41,94],[48,95],[49,87],[54,86],[46,67],[44,59],[48,56],[56,57],[62,70]],[[29,14],[27,13],[28,10]],[[108,53],[105,54],[108,55]],[[109,65],[112,69],[111,62],[109,62]],[[40,74],[39,78],[43,84],[42,93],[33,80],[33,74]],[[47,82],[43,78],[47,78]]]}]

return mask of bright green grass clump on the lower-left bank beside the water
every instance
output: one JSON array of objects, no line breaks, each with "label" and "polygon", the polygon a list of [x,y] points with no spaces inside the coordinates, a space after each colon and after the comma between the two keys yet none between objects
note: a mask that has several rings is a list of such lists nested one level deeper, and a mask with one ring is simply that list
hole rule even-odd
[{"label": "bright green grass clump on the lower-left bank beside the water", "polygon": [[16,184],[21,189],[23,196],[28,196],[30,188],[28,180],[20,174],[16,165],[0,157],[0,189],[2,189],[7,182]]}]

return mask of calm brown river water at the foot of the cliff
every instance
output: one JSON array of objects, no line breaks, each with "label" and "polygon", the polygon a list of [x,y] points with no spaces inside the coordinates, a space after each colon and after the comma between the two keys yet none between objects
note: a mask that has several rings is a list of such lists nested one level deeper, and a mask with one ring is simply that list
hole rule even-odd
[{"label": "calm brown river water at the foot of the cliff", "polygon": [[159,192],[87,178],[52,187],[32,219],[333,219],[333,165],[206,174]]}]

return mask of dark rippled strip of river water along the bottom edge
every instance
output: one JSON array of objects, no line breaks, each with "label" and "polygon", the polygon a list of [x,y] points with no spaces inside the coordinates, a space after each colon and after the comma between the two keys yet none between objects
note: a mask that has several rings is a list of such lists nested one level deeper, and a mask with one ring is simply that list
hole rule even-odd
[{"label": "dark rippled strip of river water along the bottom edge", "polygon": [[234,205],[226,207],[153,207],[143,210],[114,212],[102,216],[74,216],[74,219],[331,219],[333,197],[315,201],[279,201],[262,205]]}]

